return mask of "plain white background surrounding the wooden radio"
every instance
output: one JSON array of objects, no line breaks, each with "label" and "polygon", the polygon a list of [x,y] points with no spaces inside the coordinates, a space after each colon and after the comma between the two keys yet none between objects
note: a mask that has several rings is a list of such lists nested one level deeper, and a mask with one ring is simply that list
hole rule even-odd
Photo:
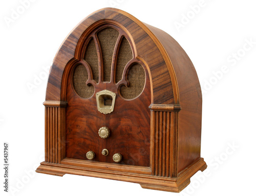
[{"label": "plain white background surrounding the wooden radio", "polygon": [[[1,169],[0,194],[254,195],[256,4],[253,0],[199,2],[34,0],[23,9],[20,1],[2,0],[0,162],[6,141],[11,187],[4,192]],[[44,161],[45,70],[76,24],[104,7],[124,10],[164,30],[195,65],[204,90],[201,156],[208,168],[192,177],[179,194],[142,189],[135,183],[34,172]],[[19,16],[6,22],[17,9]],[[177,28],[178,23],[182,27]]]}]

